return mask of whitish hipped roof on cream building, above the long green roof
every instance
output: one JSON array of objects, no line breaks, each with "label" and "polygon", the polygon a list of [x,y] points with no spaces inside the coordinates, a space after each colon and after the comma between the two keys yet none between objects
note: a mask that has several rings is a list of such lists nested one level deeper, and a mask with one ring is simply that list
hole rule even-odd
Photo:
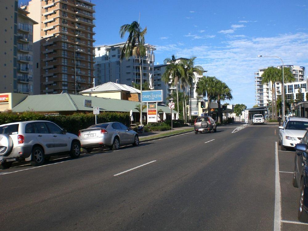
[{"label": "whitish hipped roof on cream building, above the long green roof", "polygon": [[140,93],[140,90],[134,87],[130,87],[126,84],[108,82],[98,85],[96,87],[89,88],[87,90],[80,91],[79,94],[103,91],[129,91],[130,93]]}]

